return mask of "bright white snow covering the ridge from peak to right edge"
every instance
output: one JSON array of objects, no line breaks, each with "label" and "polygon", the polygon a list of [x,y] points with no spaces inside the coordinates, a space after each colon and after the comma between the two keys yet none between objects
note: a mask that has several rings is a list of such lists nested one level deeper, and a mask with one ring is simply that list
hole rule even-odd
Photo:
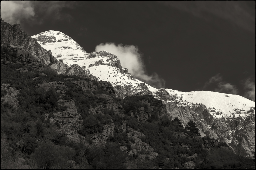
[{"label": "bright white snow covering the ridge from peak to right edge", "polygon": [[[72,64],[78,64],[80,67],[86,67],[85,69],[89,70],[90,73],[96,76],[99,80],[109,81],[113,86],[131,86],[134,90],[134,93],[142,90],[138,84],[143,82],[134,79],[130,73],[121,73],[116,67],[108,65],[89,67],[90,64],[94,64],[100,59],[102,59],[105,64],[119,60],[113,54],[110,54],[106,51],[103,51],[102,53],[104,56],[101,56],[100,52],[87,53],[81,46],[72,40],[72,38],[59,31],[45,31],[31,37],[36,38],[37,40],[40,37],[43,38],[44,41],[40,40],[38,43],[43,48],[51,50],[53,56],[59,60],[62,60],[65,64],[68,64],[68,66],[71,66]],[[107,59],[109,61],[106,61]],[[145,85],[152,92],[154,97],[161,99],[155,94],[155,92],[157,92],[159,89],[154,88],[146,83]],[[184,105],[185,103],[186,106],[192,106],[192,103],[201,103],[206,105],[208,111],[216,118],[220,118],[222,116],[237,117],[239,115],[241,117],[246,117],[249,114],[255,114],[255,109],[251,113],[247,113],[248,110],[251,110],[251,107],[255,107],[255,102],[242,96],[213,91],[182,92],[172,89],[165,90],[170,94],[171,97],[173,97],[173,100],[163,100],[164,102],[171,102],[176,100],[179,101],[178,105],[180,106]],[[212,110],[215,112],[211,112]]]}]

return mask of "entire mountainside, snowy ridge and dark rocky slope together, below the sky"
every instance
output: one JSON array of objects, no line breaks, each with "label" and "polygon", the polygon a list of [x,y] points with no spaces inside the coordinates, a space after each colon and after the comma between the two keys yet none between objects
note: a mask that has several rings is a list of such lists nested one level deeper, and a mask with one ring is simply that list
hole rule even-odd
[{"label": "entire mountainside, snowy ridge and dark rocky slope together, below the sky", "polygon": [[1,20],[1,168],[21,153],[21,168],[255,168],[255,102],[156,89],[114,54]]}]

